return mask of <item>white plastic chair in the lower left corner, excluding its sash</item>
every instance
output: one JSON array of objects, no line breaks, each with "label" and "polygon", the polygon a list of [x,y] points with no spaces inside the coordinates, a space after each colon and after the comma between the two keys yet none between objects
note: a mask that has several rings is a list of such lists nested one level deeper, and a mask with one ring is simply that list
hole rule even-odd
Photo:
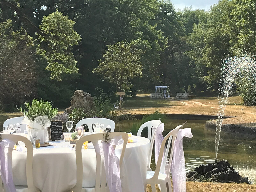
[{"label": "white plastic chair in the lower left corner, excluding its sash", "polygon": [[[26,156],[26,177],[27,177],[27,186],[23,185],[15,185],[16,192],[36,192],[39,191],[38,188],[35,187],[33,183],[33,171],[32,171],[32,164],[33,164],[33,146],[30,140],[26,137],[16,134],[1,134],[2,140],[9,139],[12,140],[14,143],[21,141],[26,145],[27,148],[27,156]],[[8,155],[12,157],[13,148],[9,148]],[[22,153],[22,152],[21,152]],[[1,180],[2,181],[2,180]],[[0,192],[3,192],[2,182],[0,186]]]}]

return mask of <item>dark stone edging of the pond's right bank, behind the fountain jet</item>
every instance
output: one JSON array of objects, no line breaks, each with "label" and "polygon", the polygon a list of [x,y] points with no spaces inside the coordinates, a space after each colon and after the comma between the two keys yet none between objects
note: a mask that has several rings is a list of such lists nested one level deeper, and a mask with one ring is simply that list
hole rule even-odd
[{"label": "dark stone edging of the pond's right bank, behind the fountain jet", "polygon": [[[216,129],[216,122],[214,121],[206,121],[205,129],[208,131],[214,131]],[[255,135],[256,134],[256,127],[248,127],[239,124],[222,124],[221,132],[223,133],[232,133],[232,134],[239,134],[239,135]]]}]

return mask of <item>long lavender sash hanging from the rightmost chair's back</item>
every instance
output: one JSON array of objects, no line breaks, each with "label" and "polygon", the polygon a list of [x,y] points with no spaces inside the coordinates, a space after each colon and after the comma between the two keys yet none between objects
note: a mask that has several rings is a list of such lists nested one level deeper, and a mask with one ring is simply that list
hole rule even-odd
[{"label": "long lavender sash hanging from the rightmost chair's back", "polygon": [[191,128],[180,129],[174,141],[171,164],[173,192],[186,192],[186,168],[183,151],[183,137],[193,137]]}]

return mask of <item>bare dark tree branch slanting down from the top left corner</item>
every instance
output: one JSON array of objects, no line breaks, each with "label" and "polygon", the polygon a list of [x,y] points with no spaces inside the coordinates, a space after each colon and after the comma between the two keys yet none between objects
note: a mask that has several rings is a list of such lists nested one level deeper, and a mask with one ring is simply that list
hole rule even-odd
[{"label": "bare dark tree branch slanting down from the top left corner", "polygon": [[15,4],[11,3],[10,1],[7,0],[0,0],[0,3],[5,4],[8,7],[11,7],[11,9],[15,10],[17,16],[19,17],[19,19],[21,21],[24,21],[27,26],[31,29],[33,29],[34,31],[36,31],[36,33],[38,33],[39,35],[42,36],[47,36],[47,34],[43,33],[38,27],[36,27],[29,19],[28,17],[25,16],[25,14],[22,13],[22,11],[20,10],[20,8],[18,6],[16,6]]}]

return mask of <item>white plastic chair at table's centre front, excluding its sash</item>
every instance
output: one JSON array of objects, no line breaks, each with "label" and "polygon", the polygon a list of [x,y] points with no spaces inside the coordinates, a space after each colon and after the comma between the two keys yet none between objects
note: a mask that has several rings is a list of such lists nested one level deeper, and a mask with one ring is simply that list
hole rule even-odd
[{"label": "white plastic chair at table's centre front, excluding its sash", "polygon": [[[102,140],[102,138],[105,138],[106,132],[104,133],[96,133],[91,135],[85,135],[81,137],[77,143],[76,143],[76,186],[71,189],[73,192],[106,192],[109,191],[109,188],[107,186],[106,182],[106,173],[105,168],[103,165],[103,156],[101,156],[99,153],[96,153],[96,178],[95,178],[95,187],[92,188],[82,188],[83,184],[83,160],[82,160],[82,146],[85,141],[91,141],[93,146],[96,146],[98,144],[99,140]],[[109,134],[109,138],[116,138],[117,136],[121,136],[124,140],[123,148],[121,152],[121,156],[119,159],[119,167],[121,167],[121,164],[123,162],[124,157],[124,151],[126,148],[126,144],[128,142],[128,134],[125,132],[111,132]],[[116,148],[115,145],[113,145],[114,149]],[[101,187],[104,186],[104,187]]]}]

